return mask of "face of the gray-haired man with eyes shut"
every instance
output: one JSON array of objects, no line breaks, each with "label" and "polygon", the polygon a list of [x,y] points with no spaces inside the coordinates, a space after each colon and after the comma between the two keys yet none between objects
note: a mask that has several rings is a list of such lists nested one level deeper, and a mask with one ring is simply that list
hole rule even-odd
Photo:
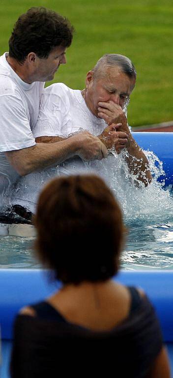
[{"label": "face of the gray-haired man with eyes shut", "polygon": [[95,116],[98,116],[98,103],[114,101],[121,108],[128,101],[135,86],[135,79],[129,78],[119,67],[107,67],[103,76],[93,77],[87,73],[86,102]]}]

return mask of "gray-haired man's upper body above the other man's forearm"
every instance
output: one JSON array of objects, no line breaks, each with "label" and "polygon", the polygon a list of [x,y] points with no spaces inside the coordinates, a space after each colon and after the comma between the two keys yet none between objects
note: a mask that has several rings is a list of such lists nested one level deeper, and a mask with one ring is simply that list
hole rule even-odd
[{"label": "gray-haired man's upper body above the other man's forearm", "polygon": [[134,140],[126,117],[135,82],[136,70],[129,58],[106,54],[87,72],[83,91],[62,83],[51,85],[41,98],[33,130],[36,141],[57,142],[81,129],[88,130],[108,150],[115,148],[120,153],[126,148],[130,171],[147,186],[151,180],[148,161]]}]

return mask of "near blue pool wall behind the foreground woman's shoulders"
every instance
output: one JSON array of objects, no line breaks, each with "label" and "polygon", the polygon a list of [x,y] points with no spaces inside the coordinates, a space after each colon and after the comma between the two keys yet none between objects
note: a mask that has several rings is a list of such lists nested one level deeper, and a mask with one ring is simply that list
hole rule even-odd
[{"label": "near blue pool wall behind the foreground woman's shoulders", "polygon": [[[173,271],[121,271],[117,281],[142,287],[159,317],[165,342],[173,341]],[[12,338],[19,309],[40,301],[60,287],[38,269],[0,270],[0,325],[3,339]]]}]

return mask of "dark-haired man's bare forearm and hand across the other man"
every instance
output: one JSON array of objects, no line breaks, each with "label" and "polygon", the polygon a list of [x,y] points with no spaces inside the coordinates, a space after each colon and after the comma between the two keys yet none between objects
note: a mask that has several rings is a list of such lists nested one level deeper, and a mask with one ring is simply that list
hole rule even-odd
[{"label": "dark-haired man's bare forearm and hand across the other man", "polygon": [[107,148],[99,138],[84,131],[55,143],[36,143],[29,148],[6,152],[5,155],[13,168],[25,176],[76,155],[84,160],[101,160],[106,157]]}]

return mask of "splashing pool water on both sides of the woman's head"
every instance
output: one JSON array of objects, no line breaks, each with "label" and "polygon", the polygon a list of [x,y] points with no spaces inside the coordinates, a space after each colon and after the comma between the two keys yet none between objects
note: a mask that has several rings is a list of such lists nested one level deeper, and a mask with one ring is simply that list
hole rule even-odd
[{"label": "splashing pool water on both sides of the woman's head", "polygon": [[[162,162],[151,152],[146,155],[153,175],[147,188],[135,185],[121,154],[94,162],[94,169],[115,194],[128,229],[121,267],[173,269],[173,190],[164,190],[163,184],[157,182],[159,175],[164,174]],[[87,173],[90,168],[87,164]],[[32,191],[29,192],[31,195]],[[40,266],[33,257],[33,226],[0,225],[0,234],[3,234],[0,235],[0,268]]]}]

